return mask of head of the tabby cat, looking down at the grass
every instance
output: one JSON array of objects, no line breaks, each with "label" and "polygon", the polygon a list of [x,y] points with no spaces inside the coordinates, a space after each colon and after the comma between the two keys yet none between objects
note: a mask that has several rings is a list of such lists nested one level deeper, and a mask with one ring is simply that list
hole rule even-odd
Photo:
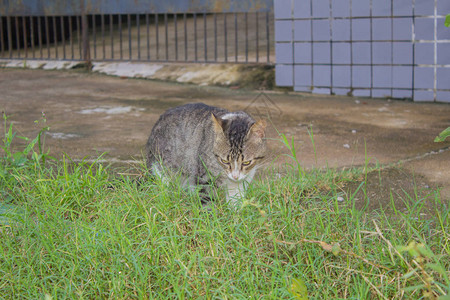
[{"label": "head of the tabby cat, looking down at the grass", "polygon": [[[253,177],[266,155],[266,122],[255,122],[244,112],[229,113],[222,117],[211,115],[214,127],[214,155],[233,181]],[[250,178],[251,179],[251,178]]]}]

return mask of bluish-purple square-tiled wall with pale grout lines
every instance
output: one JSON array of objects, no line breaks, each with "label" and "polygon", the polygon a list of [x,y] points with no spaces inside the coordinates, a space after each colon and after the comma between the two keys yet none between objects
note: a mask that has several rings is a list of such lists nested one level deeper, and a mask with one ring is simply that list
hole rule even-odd
[{"label": "bluish-purple square-tiled wall with pale grout lines", "polygon": [[276,83],[450,102],[450,0],[274,0]]}]

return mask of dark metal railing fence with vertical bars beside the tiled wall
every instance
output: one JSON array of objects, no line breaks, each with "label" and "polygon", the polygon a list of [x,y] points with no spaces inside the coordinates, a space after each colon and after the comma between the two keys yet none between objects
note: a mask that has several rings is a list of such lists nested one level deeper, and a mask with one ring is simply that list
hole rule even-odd
[{"label": "dark metal railing fence with vertical bars beside the tiled wall", "polygon": [[118,0],[115,7],[101,0],[63,7],[43,1],[47,6],[38,8],[22,2],[29,5],[0,4],[0,59],[274,62],[268,0],[200,0],[190,6]]}]

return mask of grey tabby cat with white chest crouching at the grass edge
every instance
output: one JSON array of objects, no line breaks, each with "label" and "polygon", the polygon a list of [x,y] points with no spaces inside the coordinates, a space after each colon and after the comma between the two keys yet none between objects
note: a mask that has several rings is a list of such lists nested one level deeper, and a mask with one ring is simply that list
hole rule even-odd
[{"label": "grey tabby cat with white chest crouching at the grass edge", "polygon": [[163,113],[148,138],[147,166],[167,180],[181,173],[184,184],[200,187],[211,200],[211,186],[224,189],[226,201],[236,207],[266,156],[266,122],[243,111],[186,104]]}]

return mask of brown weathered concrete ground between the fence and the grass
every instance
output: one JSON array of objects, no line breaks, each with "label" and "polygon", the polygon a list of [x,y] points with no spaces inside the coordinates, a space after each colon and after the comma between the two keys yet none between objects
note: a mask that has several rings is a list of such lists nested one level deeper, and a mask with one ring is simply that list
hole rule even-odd
[{"label": "brown weathered concrete ground between the fence and the grass", "polygon": [[24,69],[0,69],[0,91],[0,109],[18,135],[35,136],[43,126],[35,120],[45,113],[50,126],[45,146],[56,158],[63,153],[72,159],[95,158],[106,152],[107,161],[133,163],[142,159],[161,113],[204,102],[270,118],[268,136],[276,163],[284,159],[277,155],[286,153],[276,140],[278,130],[294,138],[305,168],[389,165],[377,173],[383,180],[372,176],[377,188],[371,193],[379,193],[384,199],[380,201],[389,201],[392,192],[434,187],[441,188],[443,200],[450,200],[450,141],[433,142],[450,126],[449,104],[286,92],[261,95],[81,71]]}]

